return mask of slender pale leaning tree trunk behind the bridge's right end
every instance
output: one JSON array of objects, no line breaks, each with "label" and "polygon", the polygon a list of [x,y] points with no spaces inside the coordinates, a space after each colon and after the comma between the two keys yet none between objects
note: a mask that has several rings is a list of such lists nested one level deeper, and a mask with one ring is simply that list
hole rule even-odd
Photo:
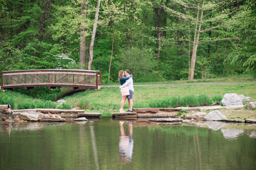
[{"label": "slender pale leaning tree trunk behind the bridge's right end", "polygon": [[98,24],[99,11],[100,11],[100,0],[98,0],[98,2],[97,2],[96,12],[95,12],[95,19],[94,19],[94,25],[93,25],[93,30],[92,30],[92,39],[91,39],[91,44],[90,44],[90,57],[89,57],[89,62],[88,62],[88,70],[92,70],[93,45],[94,45],[94,39],[95,39],[95,34],[96,34],[96,28],[97,28],[97,24]]}]

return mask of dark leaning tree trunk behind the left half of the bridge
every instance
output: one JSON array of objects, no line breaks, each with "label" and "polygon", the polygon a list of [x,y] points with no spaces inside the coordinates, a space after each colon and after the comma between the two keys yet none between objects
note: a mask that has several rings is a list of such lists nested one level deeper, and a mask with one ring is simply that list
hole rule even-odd
[{"label": "dark leaning tree trunk behind the left half of the bridge", "polygon": [[[45,27],[45,24],[47,21],[48,12],[51,8],[51,1],[52,0],[47,0],[47,1],[45,1],[45,4],[44,4],[44,13],[41,16],[40,29],[39,29],[38,36],[37,36],[36,52],[33,54],[33,56],[35,56],[35,57],[38,56],[38,50],[39,50],[39,46],[37,44],[38,44],[38,42],[42,42],[42,39],[43,39],[44,27]],[[35,60],[32,60],[30,62],[30,66],[35,65],[35,64],[36,64]]]}]

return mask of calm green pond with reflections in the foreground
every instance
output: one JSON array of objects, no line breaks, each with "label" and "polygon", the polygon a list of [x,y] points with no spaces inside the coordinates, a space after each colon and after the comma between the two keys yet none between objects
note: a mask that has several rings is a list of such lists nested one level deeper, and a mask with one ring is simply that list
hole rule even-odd
[{"label": "calm green pond with reflections in the foreground", "polygon": [[0,169],[255,169],[256,124],[87,122],[0,124]]}]

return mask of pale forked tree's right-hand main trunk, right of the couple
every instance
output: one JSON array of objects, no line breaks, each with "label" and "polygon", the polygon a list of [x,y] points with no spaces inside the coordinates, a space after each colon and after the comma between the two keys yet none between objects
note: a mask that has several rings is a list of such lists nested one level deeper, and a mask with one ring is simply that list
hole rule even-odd
[{"label": "pale forked tree's right-hand main trunk, right of the couple", "polygon": [[[204,0],[203,0],[203,6],[204,6]],[[200,36],[200,31],[201,31],[203,13],[204,13],[204,11],[202,10],[200,23],[199,23],[199,28],[198,28],[198,33],[197,33],[197,38],[196,38],[196,43],[195,43],[195,47],[193,47],[193,52],[192,52],[192,56],[191,56],[191,68],[190,68],[191,76],[190,76],[190,80],[194,79],[195,64],[196,64],[196,51],[197,51],[198,41],[199,41],[199,36]]]}]

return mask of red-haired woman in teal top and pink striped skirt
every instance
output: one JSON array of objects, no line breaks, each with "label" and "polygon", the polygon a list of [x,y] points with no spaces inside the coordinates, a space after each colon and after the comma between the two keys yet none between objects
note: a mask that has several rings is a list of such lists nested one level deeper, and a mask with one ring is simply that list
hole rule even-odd
[{"label": "red-haired woman in teal top and pink striped skirt", "polygon": [[[118,81],[121,84],[121,86],[126,82],[126,80],[130,79],[132,75],[129,75],[128,77],[124,77],[124,71],[120,70],[118,73]],[[121,101],[121,107],[120,107],[120,113],[125,113],[124,111],[124,101],[127,98],[129,93],[128,86],[125,86],[124,88],[120,89],[122,93],[122,101]]]}]

